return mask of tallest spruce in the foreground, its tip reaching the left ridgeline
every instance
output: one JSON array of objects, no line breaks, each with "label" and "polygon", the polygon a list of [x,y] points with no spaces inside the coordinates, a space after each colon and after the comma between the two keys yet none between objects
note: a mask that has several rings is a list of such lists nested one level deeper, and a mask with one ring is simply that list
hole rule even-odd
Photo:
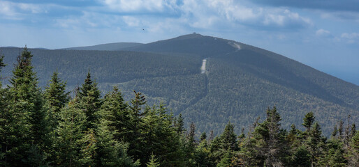
[{"label": "tallest spruce in the foreground, its tip reaching the left ridgeline", "polygon": [[32,54],[24,48],[8,86],[8,134],[3,143],[5,159],[10,166],[38,166],[45,161],[47,121],[36,73],[31,65]]}]

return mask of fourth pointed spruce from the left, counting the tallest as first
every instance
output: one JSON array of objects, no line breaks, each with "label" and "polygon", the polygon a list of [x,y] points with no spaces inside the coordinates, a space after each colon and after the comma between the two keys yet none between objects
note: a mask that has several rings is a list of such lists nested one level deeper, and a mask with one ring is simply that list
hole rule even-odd
[{"label": "fourth pointed spruce from the left, counting the tallest as first", "polygon": [[[129,109],[122,93],[115,87],[105,95],[97,129],[96,164],[98,166],[138,166],[127,154],[128,143],[124,143],[129,124]],[[129,138],[128,138],[129,139]]]}]

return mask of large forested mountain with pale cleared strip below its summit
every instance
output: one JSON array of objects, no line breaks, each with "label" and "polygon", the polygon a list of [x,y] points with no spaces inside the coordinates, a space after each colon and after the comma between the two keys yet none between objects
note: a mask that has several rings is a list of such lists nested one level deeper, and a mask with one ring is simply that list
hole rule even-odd
[{"label": "large forested mountain with pale cleared strip below its summit", "polygon": [[[1,48],[5,63],[15,63],[18,48]],[[198,133],[220,133],[228,121],[236,131],[250,129],[276,105],[281,124],[301,127],[302,116],[313,111],[330,134],[340,119],[351,115],[358,125],[359,86],[271,51],[197,33],[121,51],[31,49],[39,84],[50,75],[73,90],[90,70],[105,93],[119,86],[129,100],[133,90],[144,93],[149,105],[163,102],[175,116],[195,122]],[[203,67],[205,65],[205,67]],[[200,68],[203,67],[201,72]],[[3,76],[10,77],[11,65]]]}]

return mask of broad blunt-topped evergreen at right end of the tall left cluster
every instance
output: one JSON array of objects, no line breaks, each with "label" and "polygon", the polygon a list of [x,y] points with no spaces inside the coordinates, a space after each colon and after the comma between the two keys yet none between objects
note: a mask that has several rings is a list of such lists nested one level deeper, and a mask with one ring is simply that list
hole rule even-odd
[{"label": "broad blunt-topped evergreen at right end of the tall left cluster", "polygon": [[143,118],[142,158],[141,164],[151,159],[150,154],[156,154],[160,166],[183,166],[183,153],[180,149],[180,138],[172,126],[172,118],[168,110],[159,106],[147,106]]}]

